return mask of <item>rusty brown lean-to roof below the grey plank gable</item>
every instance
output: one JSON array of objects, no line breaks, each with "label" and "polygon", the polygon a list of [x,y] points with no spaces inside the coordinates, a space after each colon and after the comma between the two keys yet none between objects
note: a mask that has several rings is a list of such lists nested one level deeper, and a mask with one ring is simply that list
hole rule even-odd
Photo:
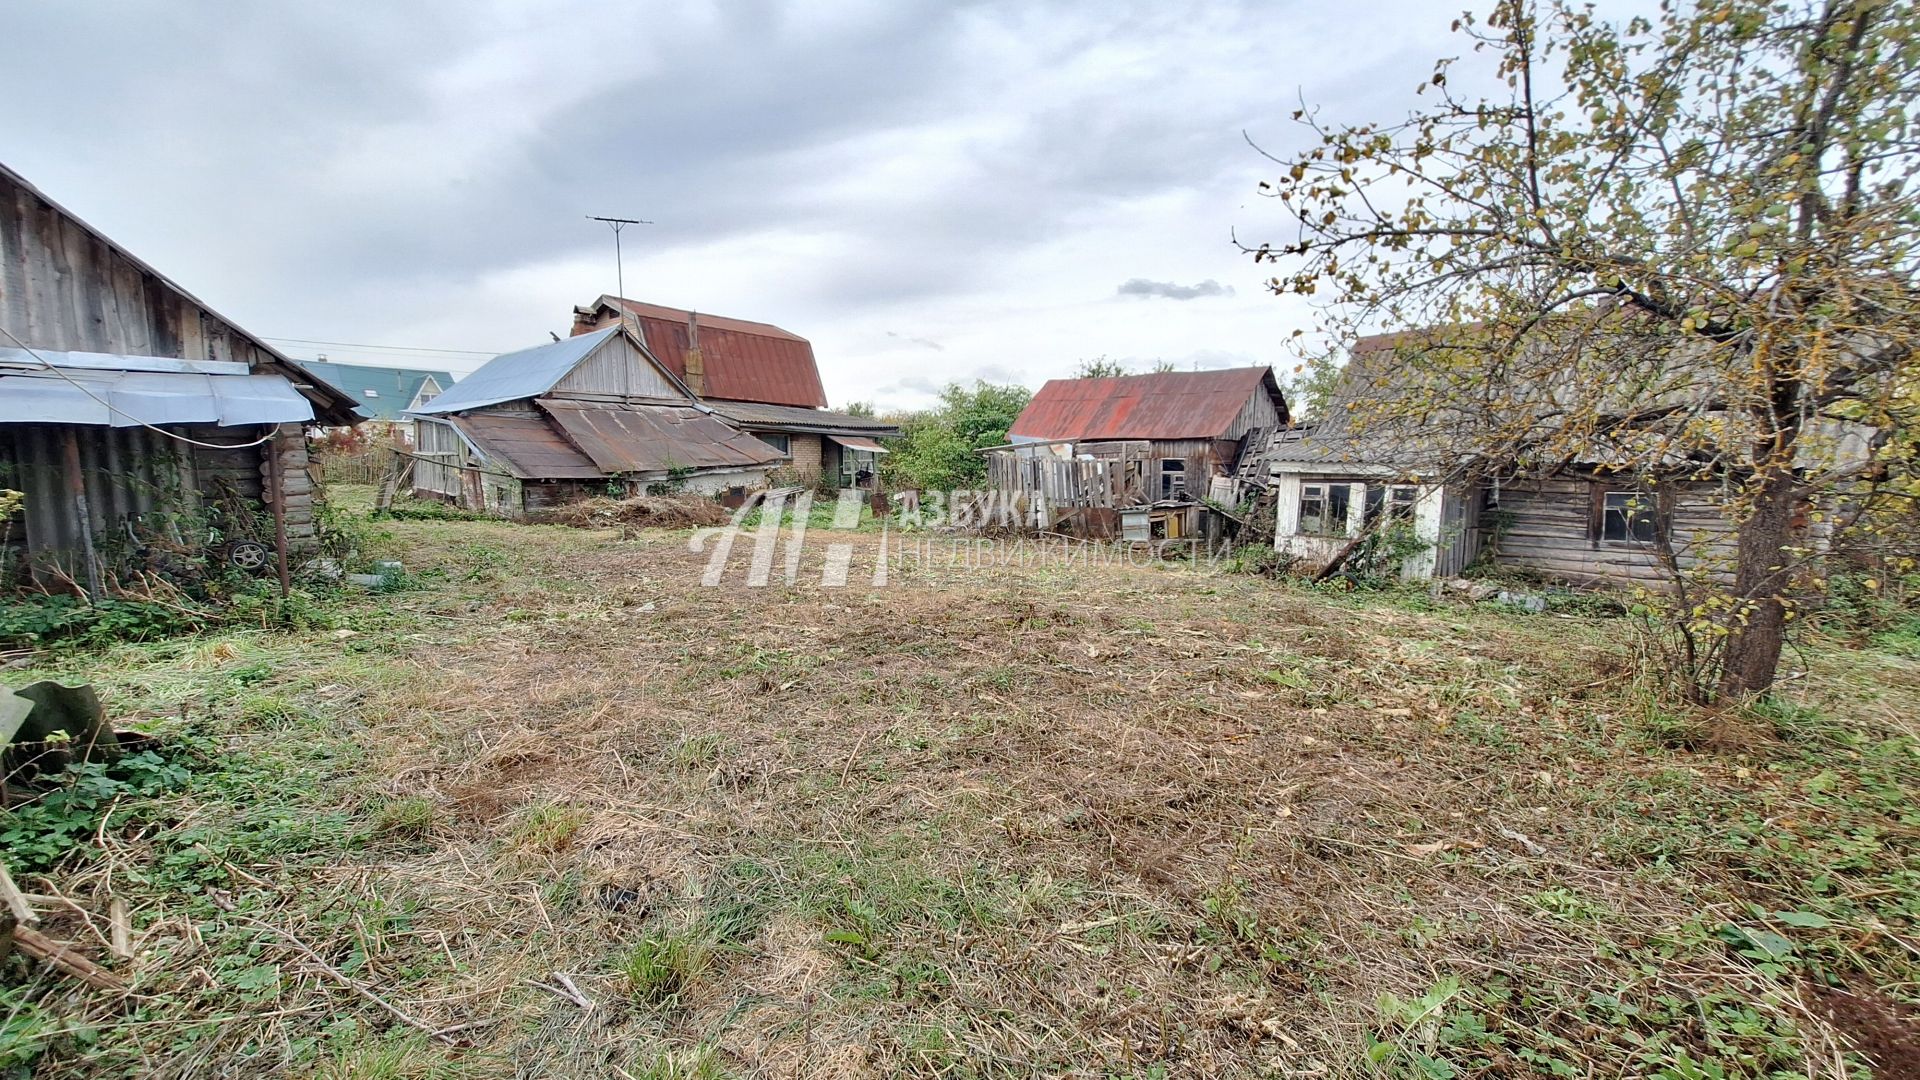
[{"label": "rusty brown lean-to roof below the grey plank gable", "polygon": [[756,469],[783,461],[772,446],[701,409],[563,398],[540,398],[538,404],[601,473]]}]

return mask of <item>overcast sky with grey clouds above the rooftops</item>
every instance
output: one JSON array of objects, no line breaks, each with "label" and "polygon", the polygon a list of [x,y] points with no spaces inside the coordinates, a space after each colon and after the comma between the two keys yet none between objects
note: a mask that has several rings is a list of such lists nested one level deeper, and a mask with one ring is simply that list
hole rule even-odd
[{"label": "overcast sky with grey clouds above the rooftops", "polygon": [[[1231,242],[1306,96],[1417,102],[1453,4],[8,10],[0,160],[253,334],[507,352],[614,292],[778,323],[828,396],[1087,357],[1292,367]],[[482,356],[276,342],[467,371]]]}]

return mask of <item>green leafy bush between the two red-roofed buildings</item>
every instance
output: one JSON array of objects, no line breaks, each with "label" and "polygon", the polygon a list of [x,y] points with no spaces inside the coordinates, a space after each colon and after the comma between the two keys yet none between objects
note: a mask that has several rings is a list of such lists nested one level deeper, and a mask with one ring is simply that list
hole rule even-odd
[{"label": "green leafy bush between the two red-roofed buildings", "polygon": [[987,479],[987,459],[975,454],[1006,442],[1020,411],[1033,400],[1025,386],[950,382],[941,404],[900,419],[900,436],[881,461],[881,475],[893,490],[918,488],[945,492],[977,488]]}]

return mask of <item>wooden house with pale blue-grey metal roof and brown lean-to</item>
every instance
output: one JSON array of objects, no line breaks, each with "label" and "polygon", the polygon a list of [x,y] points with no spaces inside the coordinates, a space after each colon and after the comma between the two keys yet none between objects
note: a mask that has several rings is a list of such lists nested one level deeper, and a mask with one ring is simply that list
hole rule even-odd
[{"label": "wooden house with pale blue-grey metal roof and brown lean-to", "polygon": [[413,419],[413,490],[509,517],[607,492],[760,488],[785,461],[618,325],[495,356]]}]

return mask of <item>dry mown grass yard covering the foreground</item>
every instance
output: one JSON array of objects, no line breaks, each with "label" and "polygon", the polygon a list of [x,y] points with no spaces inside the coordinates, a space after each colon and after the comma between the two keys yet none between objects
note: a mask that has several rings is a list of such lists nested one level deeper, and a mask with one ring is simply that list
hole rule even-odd
[{"label": "dry mown grass yard covering the foreground", "polygon": [[791,586],[741,586],[741,542],[703,588],[685,532],[382,528],[407,588],[305,630],[27,673],[177,767],[25,874],[132,980],[10,969],[33,1076],[1920,1061],[1903,642],[1814,642],[1782,703],[1707,717],[1622,619],[1177,563],[872,588],[870,532]]}]

